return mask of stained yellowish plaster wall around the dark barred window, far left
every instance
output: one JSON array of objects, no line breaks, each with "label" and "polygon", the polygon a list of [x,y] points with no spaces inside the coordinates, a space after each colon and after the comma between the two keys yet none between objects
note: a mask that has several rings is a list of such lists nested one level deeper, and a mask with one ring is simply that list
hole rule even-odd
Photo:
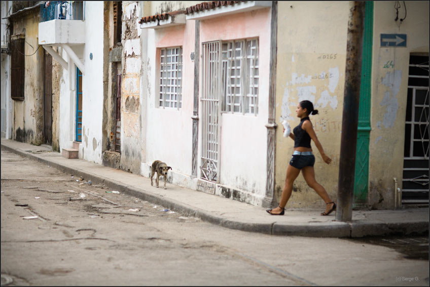
[{"label": "stained yellowish plaster wall around the dark barred window, far left", "polygon": [[12,101],[12,139],[40,145],[43,142],[44,51],[38,48],[39,15],[32,11],[12,20],[14,34],[25,32],[24,101]]}]

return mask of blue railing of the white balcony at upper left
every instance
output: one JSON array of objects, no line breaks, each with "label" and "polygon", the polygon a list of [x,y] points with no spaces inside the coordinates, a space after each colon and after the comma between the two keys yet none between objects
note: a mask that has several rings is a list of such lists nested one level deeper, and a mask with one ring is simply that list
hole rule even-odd
[{"label": "blue railing of the white balcony at upper left", "polygon": [[40,21],[85,20],[85,1],[47,1],[40,6]]}]

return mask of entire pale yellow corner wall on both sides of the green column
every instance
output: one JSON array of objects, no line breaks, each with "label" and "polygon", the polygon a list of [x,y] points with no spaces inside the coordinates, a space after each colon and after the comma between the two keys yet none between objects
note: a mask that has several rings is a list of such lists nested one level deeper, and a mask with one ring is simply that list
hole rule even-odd
[{"label": "entire pale yellow corner wall on both sides of the green column", "polygon": [[[374,2],[368,204],[375,209],[393,207],[394,177],[399,179],[401,187],[409,56],[429,50],[429,3],[406,2],[407,18],[402,24],[394,21],[394,5],[395,1]],[[291,139],[282,137],[281,122],[286,118],[294,128],[299,122],[295,117],[296,106],[305,98],[313,101],[320,112],[311,116],[311,120],[322,146],[333,159],[330,166],[322,162],[312,143],[316,155],[316,180],[336,200],[348,14],[348,2],[278,2],[277,200],[294,146]],[[399,11],[399,17],[404,17],[404,10]],[[407,34],[407,47],[380,47],[381,33]],[[321,55],[329,55],[329,59],[319,58]],[[387,61],[393,61],[394,66],[384,68]],[[309,78],[321,71],[333,71],[333,68],[339,70],[339,81],[334,90],[333,86],[330,90],[330,79]],[[324,207],[324,202],[299,176],[288,207]]]}]

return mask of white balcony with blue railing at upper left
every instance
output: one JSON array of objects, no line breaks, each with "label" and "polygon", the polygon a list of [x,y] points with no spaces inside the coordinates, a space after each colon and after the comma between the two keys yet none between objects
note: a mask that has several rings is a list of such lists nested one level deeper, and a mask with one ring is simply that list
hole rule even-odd
[{"label": "white balcony with blue railing at upper left", "polygon": [[85,44],[85,1],[48,1],[40,6],[39,45]]}]

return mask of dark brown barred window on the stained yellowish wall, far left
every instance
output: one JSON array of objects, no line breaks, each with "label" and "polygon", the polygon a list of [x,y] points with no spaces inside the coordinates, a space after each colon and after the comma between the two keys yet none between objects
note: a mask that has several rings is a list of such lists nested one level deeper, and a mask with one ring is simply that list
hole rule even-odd
[{"label": "dark brown barred window on the stained yellowish wall, far left", "polygon": [[24,100],[24,44],[23,35],[11,41],[11,98],[16,101]]}]

